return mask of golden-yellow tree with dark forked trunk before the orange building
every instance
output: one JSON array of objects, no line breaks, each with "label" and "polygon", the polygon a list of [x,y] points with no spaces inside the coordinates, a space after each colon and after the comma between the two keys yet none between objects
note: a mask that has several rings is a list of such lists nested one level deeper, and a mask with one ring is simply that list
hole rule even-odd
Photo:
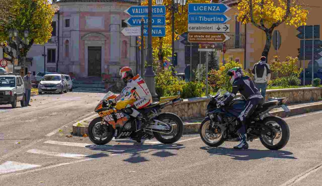
[{"label": "golden-yellow tree with dark forked trunk before the orange building", "polygon": [[308,11],[299,0],[240,0],[238,21],[252,23],[266,33],[262,56],[268,56],[273,30],[281,23],[298,27],[306,25]]}]

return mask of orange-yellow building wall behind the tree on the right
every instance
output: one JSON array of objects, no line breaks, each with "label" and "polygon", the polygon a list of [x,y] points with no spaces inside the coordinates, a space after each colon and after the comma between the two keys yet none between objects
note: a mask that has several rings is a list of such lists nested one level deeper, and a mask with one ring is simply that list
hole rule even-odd
[{"label": "orange-yellow building wall behind the tree on the right", "polygon": [[[230,24],[231,28],[230,33],[227,34],[229,36],[235,35],[235,37],[232,37],[232,39],[226,43],[227,51],[224,58],[226,60],[229,58],[237,60],[240,63],[245,64],[246,68],[252,68],[253,64],[261,57],[261,53],[266,43],[266,34],[251,23],[245,25],[236,21],[238,0],[219,0],[219,2],[232,8],[225,13],[228,17],[231,17],[231,20],[227,22],[227,24]],[[322,23],[322,20],[320,19],[322,1],[306,0],[305,3],[306,5],[303,5],[303,8],[307,9],[309,12],[307,25],[320,25]],[[300,48],[300,39],[296,36],[299,33],[297,28],[282,23],[275,30],[278,30],[281,34],[281,47],[279,48],[280,59],[285,60],[287,56],[297,57],[298,48]],[[236,34],[238,35],[238,33],[239,36],[236,37]],[[322,36],[321,30],[320,35]],[[239,41],[236,42],[236,39],[239,39]],[[240,43],[241,47],[235,47],[236,43]],[[220,59],[222,59],[222,54],[222,52],[218,52]],[[271,45],[268,60],[271,60],[275,55],[277,55],[277,51],[274,49],[273,45]],[[320,66],[322,66],[322,59],[317,61]],[[309,61],[306,61],[305,63],[306,67],[308,62]],[[298,66],[303,67],[303,63],[298,61]]]}]

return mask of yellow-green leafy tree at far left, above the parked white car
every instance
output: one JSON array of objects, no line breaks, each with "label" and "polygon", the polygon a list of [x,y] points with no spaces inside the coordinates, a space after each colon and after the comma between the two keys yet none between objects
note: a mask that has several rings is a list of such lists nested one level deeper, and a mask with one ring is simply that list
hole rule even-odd
[{"label": "yellow-green leafy tree at far left, above the parked white car", "polygon": [[[20,57],[25,58],[31,46],[35,44],[43,44],[52,36],[52,17],[55,13],[54,8],[47,0],[12,0],[10,12],[13,16],[12,20],[3,22],[0,29],[0,43],[3,46],[9,45],[16,49],[15,42],[9,39],[9,29],[16,29],[18,36],[24,38],[24,31],[29,31],[27,41],[20,40]],[[6,51],[6,54],[14,58],[12,52]],[[19,61],[19,65],[24,64]]]}]

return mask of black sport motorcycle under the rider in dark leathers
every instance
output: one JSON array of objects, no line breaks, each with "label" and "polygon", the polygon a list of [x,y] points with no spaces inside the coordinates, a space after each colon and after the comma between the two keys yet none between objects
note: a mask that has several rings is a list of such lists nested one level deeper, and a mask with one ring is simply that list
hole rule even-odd
[{"label": "black sport motorcycle under the rider in dark leathers", "polygon": [[[207,106],[207,117],[200,126],[200,137],[209,146],[216,147],[224,141],[239,140],[237,130],[240,122],[237,117],[244,110],[246,100],[233,99],[229,105],[218,108],[217,102],[223,101],[230,92],[219,90],[215,96],[208,95],[210,102]],[[280,117],[273,116],[270,110],[282,107],[289,112],[285,106],[288,98],[270,98],[246,120],[247,141],[260,138],[260,142],[270,150],[279,150],[289,141],[289,126]]]}]

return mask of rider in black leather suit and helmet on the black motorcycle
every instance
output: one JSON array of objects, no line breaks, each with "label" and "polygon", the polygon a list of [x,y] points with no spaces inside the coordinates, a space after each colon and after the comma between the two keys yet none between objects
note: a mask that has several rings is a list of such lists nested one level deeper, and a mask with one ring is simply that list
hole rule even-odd
[{"label": "rider in black leather suit and helmet on the black motorcycle", "polygon": [[260,94],[260,91],[255,87],[251,78],[249,76],[244,76],[242,68],[232,68],[228,71],[227,75],[230,76],[232,92],[224,101],[218,102],[217,106],[228,105],[238,91],[245,100],[247,100],[245,109],[238,116],[238,119],[241,122],[241,127],[238,129],[240,144],[234,146],[234,149],[248,149],[248,143],[246,141],[246,119],[251,116],[256,107],[263,104],[264,98]]}]

